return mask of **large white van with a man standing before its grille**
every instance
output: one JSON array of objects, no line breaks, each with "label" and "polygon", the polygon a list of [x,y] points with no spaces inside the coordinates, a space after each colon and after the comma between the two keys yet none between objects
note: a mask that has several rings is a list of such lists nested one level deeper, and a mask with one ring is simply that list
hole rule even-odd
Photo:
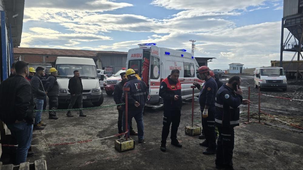
[{"label": "large white van with a man standing before its grille", "polygon": [[104,77],[98,77],[96,64],[93,59],[57,57],[55,67],[58,70],[59,103],[70,102],[68,84],[69,79],[74,76],[73,72],[75,70],[80,72],[83,85],[83,102],[92,102],[94,106],[100,106],[103,103],[104,98],[99,80],[104,79]]}]

